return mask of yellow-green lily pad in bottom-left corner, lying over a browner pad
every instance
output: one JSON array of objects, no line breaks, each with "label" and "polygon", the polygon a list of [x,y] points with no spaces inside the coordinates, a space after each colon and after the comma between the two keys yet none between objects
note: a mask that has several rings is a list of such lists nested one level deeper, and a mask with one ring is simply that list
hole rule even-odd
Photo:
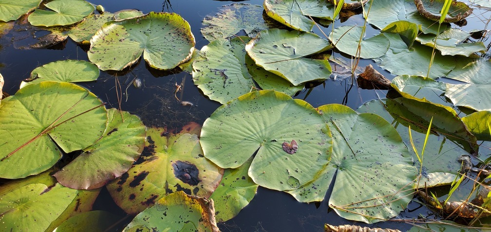
[{"label": "yellow-green lily pad in bottom-left corner, lying over a browner pad", "polygon": [[0,230],[44,232],[75,197],[77,190],[60,184],[31,183],[14,189],[0,197]]}]

